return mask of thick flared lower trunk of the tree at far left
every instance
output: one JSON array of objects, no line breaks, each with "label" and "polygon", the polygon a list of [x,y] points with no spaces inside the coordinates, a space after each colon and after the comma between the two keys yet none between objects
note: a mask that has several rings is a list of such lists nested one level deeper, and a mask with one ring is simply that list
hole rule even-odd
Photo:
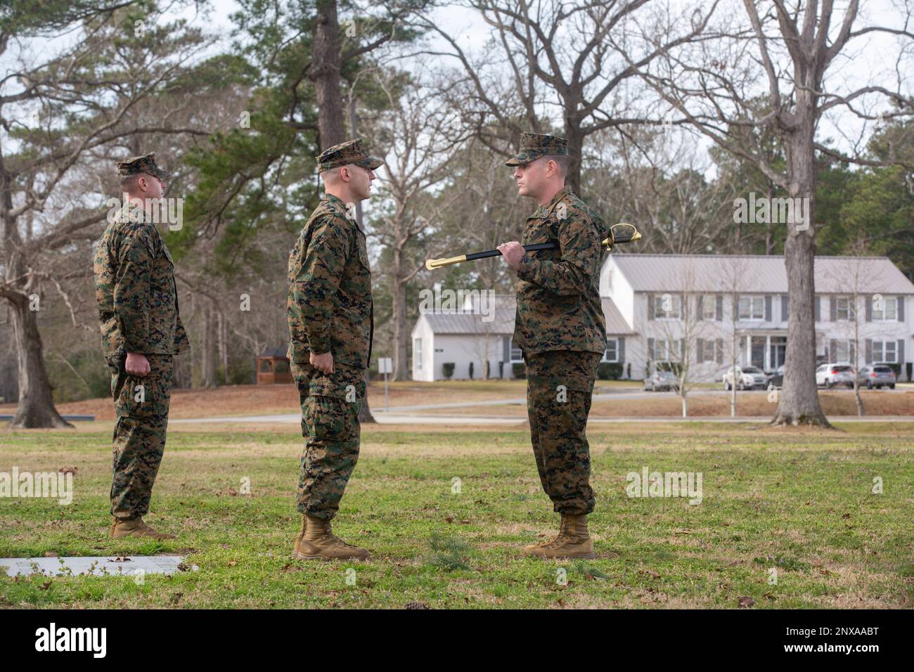
[{"label": "thick flared lower trunk of the tree at far left", "polygon": [[29,310],[27,296],[10,299],[13,338],[19,363],[19,407],[11,427],[37,429],[72,427],[54,408],[48,370],[42,355],[37,312]]}]

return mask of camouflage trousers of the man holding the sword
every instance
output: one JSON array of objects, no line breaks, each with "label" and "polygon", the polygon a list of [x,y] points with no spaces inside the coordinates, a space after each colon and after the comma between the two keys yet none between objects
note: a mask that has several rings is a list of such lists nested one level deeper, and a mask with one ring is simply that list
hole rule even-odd
[{"label": "camouflage trousers of the man holding the sword", "polygon": [[558,513],[589,514],[587,416],[600,353],[549,351],[526,356],[526,410],[543,490]]}]

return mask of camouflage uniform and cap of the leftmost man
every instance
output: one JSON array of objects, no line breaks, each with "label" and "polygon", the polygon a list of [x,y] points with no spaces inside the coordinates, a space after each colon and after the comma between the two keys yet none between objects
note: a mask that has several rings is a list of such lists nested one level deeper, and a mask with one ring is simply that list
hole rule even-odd
[{"label": "camouflage uniform and cap of the leftmost man", "polygon": [[[166,176],[152,154],[119,162],[118,173]],[[142,517],[149,511],[165,451],[172,357],[189,347],[178,315],[175,266],[155,224],[143,208],[131,203],[101,235],[94,272],[101,343],[112,372],[117,413],[111,512],[122,519]],[[147,376],[126,372],[128,352],[149,360]]]}]

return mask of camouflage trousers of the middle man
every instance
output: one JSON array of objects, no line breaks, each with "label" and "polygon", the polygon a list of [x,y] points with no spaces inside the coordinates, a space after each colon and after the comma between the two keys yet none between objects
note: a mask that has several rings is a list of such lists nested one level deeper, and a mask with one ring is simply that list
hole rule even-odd
[{"label": "camouflage trousers of the middle man", "polygon": [[365,400],[365,369],[338,362],[330,374],[308,362],[292,362],[291,368],[302,404],[304,437],[298,510],[330,520],[358,461],[358,411]]}]

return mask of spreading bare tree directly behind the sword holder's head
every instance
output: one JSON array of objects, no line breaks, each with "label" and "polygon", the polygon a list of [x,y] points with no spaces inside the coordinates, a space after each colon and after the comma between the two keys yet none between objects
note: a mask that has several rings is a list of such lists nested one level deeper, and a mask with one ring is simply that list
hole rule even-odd
[{"label": "spreading bare tree directly behind the sword holder's head", "polygon": [[[592,133],[629,123],[662,123],[628,90],[638,69],[670,48],[702,36],[719,0],[683,12],[685,26],[661,27],[648,11],[650,0],[467,0],[462,6],[480,13],[493,30],[488,53],[468,53],[457,36],[432,18],[417,24],[438,35],[444,51],[425,53],[456,59],[463,70],[464,123],[497,153],[515,144],[522,131],[548,133],[549,119],[560,119],[569,141],[567,182],[580,190],[584,141]],[[637,39],[633,27],[665,31],[663,40]]]}]

